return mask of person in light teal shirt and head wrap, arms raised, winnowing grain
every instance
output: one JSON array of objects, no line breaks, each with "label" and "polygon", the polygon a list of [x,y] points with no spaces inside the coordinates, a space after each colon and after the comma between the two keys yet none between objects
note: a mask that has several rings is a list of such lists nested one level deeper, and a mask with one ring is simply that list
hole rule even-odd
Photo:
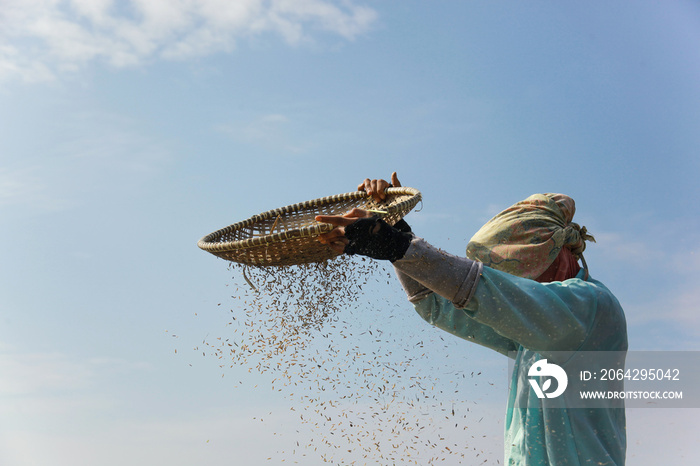
[{"label": "person in light teal shirt and head wrap, arms raised, winnowing grain", "polygon": [[[396,173],[391,183],[367,179],[358,189],[380,201],[392,185],[400,186]],[[316,218],[337,227],[319,238],[337,252],[391,261],[427,322],[515,359],[506,464],[625,462],[622,402],[572,407],[573,395],[550,398],[528,373],[542,364],[566,367],[590,351],[612,352],[612,363],[624,364],[625,316],[613,294],[588,275],[582,252],[593,237],[572,222],[575,210],[566,195],[532,195],[487,222],[469,241],[467,257],[431,246],[403,220],[392,227],[361,209]],[[619,389],[621,382],[612,384]]]}]

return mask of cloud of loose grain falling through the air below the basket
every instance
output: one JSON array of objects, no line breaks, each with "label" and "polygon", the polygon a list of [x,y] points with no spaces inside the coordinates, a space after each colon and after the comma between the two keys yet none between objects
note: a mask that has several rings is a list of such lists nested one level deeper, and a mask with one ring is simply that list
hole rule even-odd
[{"label": "cloud of loose grain falling through the air below the basket", "polygon": [[[410,320],[419,318],[405,296],[399,304],[376,298],[388,293],[392,280],[390,288],[398,286],[392,271],[348,256],[285,267],[232,263],[230,270],[237,282],[233,308],[226,311],[231,321],[225,335],[204,340],[202,354],[228,361],[221,367],[236,376],[247,369],[269,377],[265,383],[292,401],[296,447],[268,460],[311,454],[338,465],[461,462],[472,447],[463,437],[471,420],[457,418],[453,428],[454,418],[442,419],[448,403],[455,416],[469,393],[458,390],[452,367],[455,399],[445,398],[440,388],[446,380],[430,353],[444,340]],[[235,386],[243,384],[236,380]]]}]

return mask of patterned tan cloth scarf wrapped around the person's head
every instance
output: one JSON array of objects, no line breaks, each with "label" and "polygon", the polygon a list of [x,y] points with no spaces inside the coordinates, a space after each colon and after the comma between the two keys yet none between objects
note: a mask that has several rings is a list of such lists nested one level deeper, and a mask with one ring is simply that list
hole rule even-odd
[{"label": "patterned tan cloth scarf wrapped around the person's head", "polygon": [[535,279],[566,247],[586,268],[582,255],[585,241],[595,239],[586,227],[572,222],[575,212],[576,205],[569,196],[533,194],[481,227],[467,245],[467,257],[518,277]]}]

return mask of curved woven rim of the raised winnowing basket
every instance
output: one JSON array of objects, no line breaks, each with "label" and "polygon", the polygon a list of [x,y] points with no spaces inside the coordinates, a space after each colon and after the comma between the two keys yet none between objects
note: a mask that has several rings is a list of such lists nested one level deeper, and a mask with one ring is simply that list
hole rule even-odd
[{"label": "curved woven rim of the raised winnowing basket", "polygon": [[[396,203],[394,205],[386,206],[385,211],[386,213],[384,214],[379,214],[380,217],[387,216],[387,215],[392,215],[403,208],[407,204],[417,204],[421,200],[421,193],[415,188],[410,188],[407,186],[400,186],[400,187],[391,187],[387,188],[385,191],[387,194],[394,194],[394,195],[401,195],[401,194],[408,194],[411,195],[412,197],[409,198],[409,200],[403,201]],[[200,249],[203,249],[208,252],[225,252],[225,251],[234,251],[234,250],[241,250],[241,249],[250,249],[254,247],[258,247],[261,245],[265,244],[270,244],[270,243],[276,243],[280,241],[284,241],[287,239],[292,239],[292,238],[303,238],[303,237],[315,237],[320,235],[321,233],[326,233],[328,231],[331,231],[334,227],[333,225],[330,225],[328,223],[316,223],[314,225],[308,225],[305,227],[301,228],[295,228],[289,231],[284,231],[280,233],[271,233],[267,235],[262,235],[262,236],[255,236],[252,238],[246,238],[242,240],[237,240],[237,241],[226,241],[226,242],[213,242],[215,238],[221,237],[224,234],[230,233],[232,231],[240,230],[242,228],[245,228],[247,226],[250,226],[254,223],[264,221],[264,220],[269,220],[272,218],[277,218],[280,215],[284,215],[290,212],[295,212],[297,210],[301,209],[308,209],[308,208],[313,208],[317,206],[323,206],[326,204],[330,204],[333,202],[338,202],[338,201],[348,201],[348,200],[356,200],[356,199],[364,199],[371,197],[369,194],[367,194],[365,191],[352,191],[348,193],[343,193],[343,194],[335,194],[332,196],[325,196],[325,197],[320,197],[317,199],[312,199],[310,201],[305,201],[305,202],[299,202],[296,204],[290,204],[285,207],[279,207],[277,209],[272,209],[268,210],[265,212],[262,212],[257,215],[253,215],[252,217],[249,217],[245,220],[242,220],[240,222],[233,223],[229,226],[226,226],[224,228],[220,228],[212,233],[209,233],[208,235],[205,235],[202,237],[198,242],[197,246],[199,246]],[[410,209],[409,209],[410,210]]]}]

